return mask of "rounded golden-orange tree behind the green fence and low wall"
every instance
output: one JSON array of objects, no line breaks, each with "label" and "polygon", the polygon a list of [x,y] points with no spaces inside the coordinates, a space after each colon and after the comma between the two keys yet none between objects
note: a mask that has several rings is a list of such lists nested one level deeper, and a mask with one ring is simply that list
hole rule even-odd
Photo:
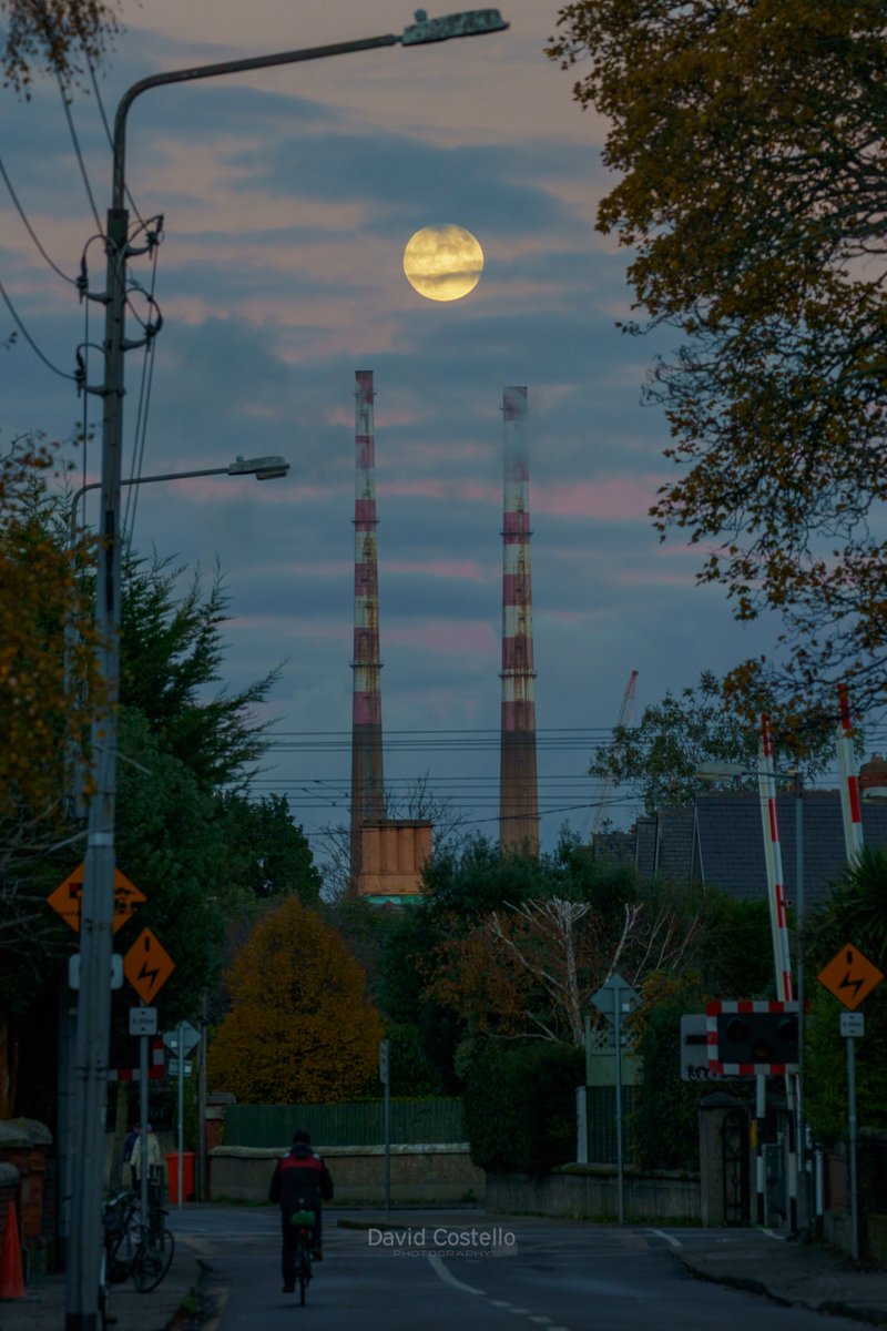
[{"label": "rounded golden-orange tree behind the green fence and low wall", "polygon": [[338,934],[295,897],[253,930],[209,1051],[214,1089],[246,1103],[326,1103],[374,1075],[383,1026]]}]

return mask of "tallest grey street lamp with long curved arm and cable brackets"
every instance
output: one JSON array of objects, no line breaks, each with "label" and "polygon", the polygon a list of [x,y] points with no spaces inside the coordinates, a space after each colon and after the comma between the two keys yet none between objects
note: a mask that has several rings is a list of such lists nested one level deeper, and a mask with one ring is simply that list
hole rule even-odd
[{"label": "tallest grey street lamp with long curved arm and cable brackets", "polygon": [[[105,1098],[108,1091],[108,1041],[110,1030],[112,917],[114,900],[114,800],[117,757],[117,680],[120,677],[120,488],[122,454],[124,353],[132,346],[124,334],[126,310],[126,258],[129,213],[125,208],[126,116],[136,97],[164,84],[191,83],[226,75],[269,69],[275,65],[324,60],[380,47],[415,47],[501,32],[508,27],[497,9],[475,9],[465,13],[428,19],[424,9],[415,23],[400,33],[364,37],[331,47],[287,51],[170,71],[142,79],[120,100],[114,117],[112,204],[108,210],[105,250],[108,276],[105,291],[98,297],[105,305],[105,375],[104,383],[86,393],[102,398],[101,519],[98,570],[96,580],[96,628],[101,643],[100,675],[106,693],[92,728],[92,753],[96,757],[96,785],[89,804],[86,860],[81,904],[81,966],[77,1005],[76,1074],[77,1130],[74,1134],[74,1174],[72,1195],[72,1233],[77,1239],[73,1260],[68,1264],[65,1331],[97,1331],[98,1327],[98,1260],[100,1213],[104,1177]],[[150,329],[153,335],[156,329]]]}]

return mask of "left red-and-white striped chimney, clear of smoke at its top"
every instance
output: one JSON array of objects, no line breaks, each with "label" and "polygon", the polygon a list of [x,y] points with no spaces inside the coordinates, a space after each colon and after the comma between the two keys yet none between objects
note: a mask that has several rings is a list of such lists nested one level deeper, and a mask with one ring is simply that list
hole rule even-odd
[{"label": "left red-and-white striped chimney, clear of smoke at its top", "polygon": [[382,691],[379,675],[379,570],[372,370],[358,370],[354,495],[354,693],[351,703],[351,890],[362,869],[362,833],[384,817]]}]

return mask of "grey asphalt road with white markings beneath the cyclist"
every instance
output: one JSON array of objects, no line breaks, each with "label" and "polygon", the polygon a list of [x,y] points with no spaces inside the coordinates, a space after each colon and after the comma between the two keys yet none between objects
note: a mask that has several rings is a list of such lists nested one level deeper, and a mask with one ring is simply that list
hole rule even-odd
[{"label": "grey asphalt road with white markings beneath the cyclist", "polygon": [[[692,1279],[681,1246],[711,1231],[582,1225],[481,1211],[328,1210],[326,1260],[306,1308],[282,1294],[279,1219],[271,1207],[194,1207],[170,1217],[182,1247],[211,1266],[218,1331],[813,1331],[823,1318]],[[354,1227],[351,1227],[354,1226]],[[719,1231],[738,1242],[741,1231]],[[761,1238],[762,1260],[767,1240]],[[858,1322],[828,1318],[828,1331]]]}]

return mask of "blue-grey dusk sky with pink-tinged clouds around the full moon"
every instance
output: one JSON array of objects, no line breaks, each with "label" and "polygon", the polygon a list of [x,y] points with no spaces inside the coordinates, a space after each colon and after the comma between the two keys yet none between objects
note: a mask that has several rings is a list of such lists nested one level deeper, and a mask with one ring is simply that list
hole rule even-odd
[{"label": "blue-grey dusk sky with pink-tinged clouds around the full moon", "polygon": [[[283,454],[286,480],[145,486],[133,543],[226,574],[226,681],[283,664],[275,745],[257,791],[286,793],[310,835],[347,815],[354,558],[354,375],[375,374],[386,779],[430,776],[465,827],[497,835],[501,394],[529,391],[541,837],[585,835],[585,775],[632,669],[637,707],[769,646],[694,586],[697,556],[660,546],[646,510],[668,476],[661,414],[640,405],[656,346],[620,335],[626,257],[594,232],[608,189],[602,125],[543,53],[557,5],[504,0],[505,33],[382,49],[150,91],[129,117],[128,182],[165,217],[142,474]],[[439,11],[432,9],[432,13]],[[138,79],[247,55],[400,32],[400,0],[125,0],[100,76],[109,118]],[[0,153],[65,277],[98,224],[59,89],[0,93]],[[89,80],[70,113],[100,218],[110,153]],[[439,303],[407,284],[403,248],[432,222],[471,230],[484,276]],[[20,334],[0,350],[0,445],[82,421],[78,343],[100,307],[39,253],[0,181],[0,280],[55,373]],[[133,298],[138,313],[144,301]],[[0,306],[0,345],[15,325]],[[136,325],[130,327],[134,335]],[[661,347],[666,347],[662,342]],[[89,355],[90,382],[101,381]],[[126,359],[128,469],[142,353]],[[88,402],[98,423],[98,399]],[[145,419],[142,410],[141,418]],[[98,475],[98,447],[86,458]],[[94,520],[94,507],[86,514]],[[636,713],[637,715],[637,713]],[[323,733],[319,733],[323,732]],[[626,825],[630,808],[612,813]]]}]

